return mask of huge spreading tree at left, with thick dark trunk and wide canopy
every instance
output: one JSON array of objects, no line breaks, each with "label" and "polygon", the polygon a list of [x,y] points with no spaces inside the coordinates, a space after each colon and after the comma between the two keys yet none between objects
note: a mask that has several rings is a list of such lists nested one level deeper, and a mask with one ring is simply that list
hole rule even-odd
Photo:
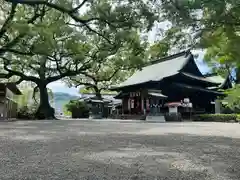
[{"label": "huge spreading tree at left, with thick dark trunk and wide canopy", "polygon": [[[40,92],[38,118],[54,118],[47,84],[89,69],[93,37],[108,48],[122,46],[126,32],[146,32],[156,17],[143,0],[1,0],[2,78],[31,81]],[[96,42],[99,43],[99,42]]]}]

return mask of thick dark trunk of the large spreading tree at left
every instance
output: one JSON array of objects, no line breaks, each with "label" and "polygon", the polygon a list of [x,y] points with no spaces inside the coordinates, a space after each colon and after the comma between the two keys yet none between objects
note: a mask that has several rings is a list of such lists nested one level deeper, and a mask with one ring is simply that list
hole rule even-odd
[{"label": "thick dark trunk of the large spreading tree at left", "polygon": [[40,92],[40,103],[38,110],[36,112],[37,119],[55,119],[54,108],[51,107],[48,98],[47,85],[39,84],[38,85]]}]

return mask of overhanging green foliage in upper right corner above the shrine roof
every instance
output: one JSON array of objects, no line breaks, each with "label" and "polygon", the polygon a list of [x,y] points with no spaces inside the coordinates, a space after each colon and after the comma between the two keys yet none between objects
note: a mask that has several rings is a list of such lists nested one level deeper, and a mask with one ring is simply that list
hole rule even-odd
[{"label": "overhanging green foliage in upper right corner above the shrine roof", "polygon": [[192,40],[187,40],[187,35],[181,40],[185,39],[192,48],[206,49],[205,60],[213,71],[229,74],[240,67],[239,1],[161,1],[160,7],[163,18],[171,22],[171,29],[191,35]]}]

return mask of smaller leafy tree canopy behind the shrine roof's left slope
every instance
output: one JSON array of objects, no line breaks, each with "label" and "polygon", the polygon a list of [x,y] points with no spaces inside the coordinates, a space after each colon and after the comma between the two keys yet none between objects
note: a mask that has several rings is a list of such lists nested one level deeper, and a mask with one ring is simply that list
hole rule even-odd
[{"label": "smaller leafy tree canopy behind the shrine roof's left slope", "polygon": [[[96,44],[96,41],[99,43]],[[89,43],[95,51],[91,56],[91,67],[75,77],[70,77],[67,83],[76,87],[84,85],[99,99],[102,98],[102,91],[121,83],[144,64],[147,43],[134,31],[121,34],[113,48],[101,43],[99,37],[93,38]]]}]

